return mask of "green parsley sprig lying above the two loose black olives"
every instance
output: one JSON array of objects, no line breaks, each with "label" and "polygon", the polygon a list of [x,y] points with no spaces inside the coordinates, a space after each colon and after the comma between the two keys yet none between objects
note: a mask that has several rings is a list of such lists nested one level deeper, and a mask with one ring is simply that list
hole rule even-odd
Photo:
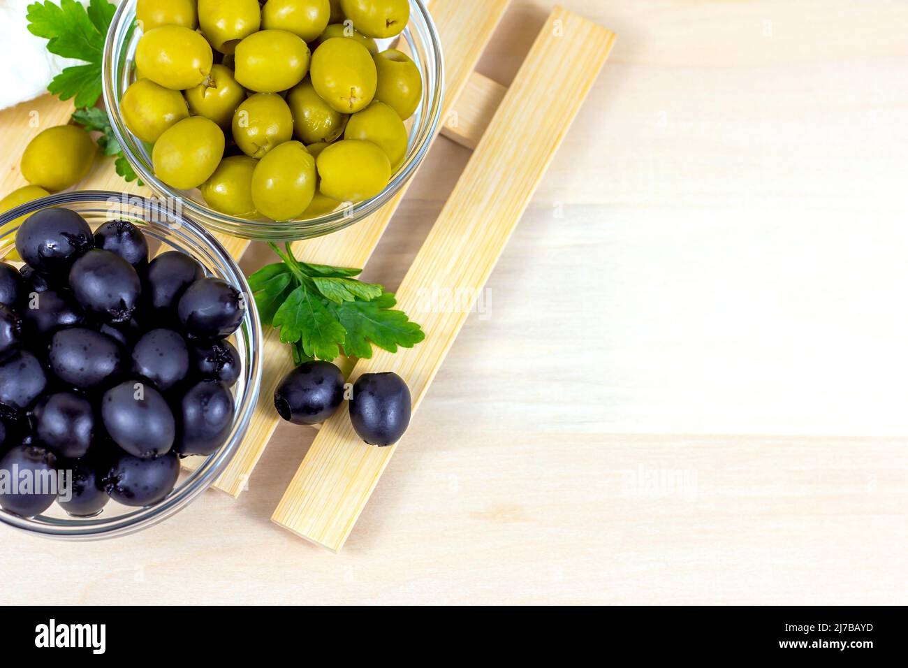
[{"label": "green parsley sprig lying above the two loose black olives", "polygon": [[394,309],[394,294],[380,284],[361,283],[361,269],[297,260],[269,244],[282,262],[267,264],[249,277],[262,323],[280,328],[291,344],[293,361],[333,360],[341,352],[372,356],[372,344],[396,353],[425,338],[419,324]]}]

